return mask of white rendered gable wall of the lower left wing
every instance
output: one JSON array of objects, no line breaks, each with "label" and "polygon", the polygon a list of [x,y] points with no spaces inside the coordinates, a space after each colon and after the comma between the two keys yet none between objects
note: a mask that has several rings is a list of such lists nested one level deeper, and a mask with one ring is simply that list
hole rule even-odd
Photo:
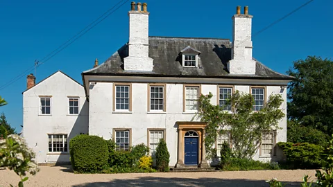
[{"label": "white rendered gable wall of the lower left wing", "polygon": [[[40,115],[40,96],[52,96],[51,115]],[[79,114],[69,115],[67,96],[79,97]],[[23,94],[23,129],[38,163],[69,162],[69,154],[49,152],[48,134],[68,134],[69,140],[88,132],[88,107],[83,87],[60,71]],[[68,141],[69,141],[68,140]]]}]

